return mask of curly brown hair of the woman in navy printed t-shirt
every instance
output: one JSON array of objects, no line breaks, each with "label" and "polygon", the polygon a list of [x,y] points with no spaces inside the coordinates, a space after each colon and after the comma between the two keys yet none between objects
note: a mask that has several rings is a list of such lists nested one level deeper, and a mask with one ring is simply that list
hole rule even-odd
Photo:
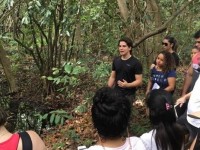
[{"label": "curly brown hair of the woman in navy printed t-shirt", "polygon": [[[164,56],[164,66],[163,66],[163,71],[167,72],[170,70],[174,70],[175,68],[175,60],[172,54],[168,51],[161,51],[159,54],[162,54]],[[158,55],[159,55],[158,54]]]}]

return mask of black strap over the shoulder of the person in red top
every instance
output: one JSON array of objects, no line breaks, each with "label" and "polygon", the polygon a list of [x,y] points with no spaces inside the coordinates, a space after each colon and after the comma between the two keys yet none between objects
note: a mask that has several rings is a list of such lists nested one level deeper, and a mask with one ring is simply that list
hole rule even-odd
[{"label": "black strap over the shoulder of the person in red top", "polygon": [[30,135],[27,132],[19,132],[18,134],[22,139],[22,149],[32,150],[33,146]]}]

